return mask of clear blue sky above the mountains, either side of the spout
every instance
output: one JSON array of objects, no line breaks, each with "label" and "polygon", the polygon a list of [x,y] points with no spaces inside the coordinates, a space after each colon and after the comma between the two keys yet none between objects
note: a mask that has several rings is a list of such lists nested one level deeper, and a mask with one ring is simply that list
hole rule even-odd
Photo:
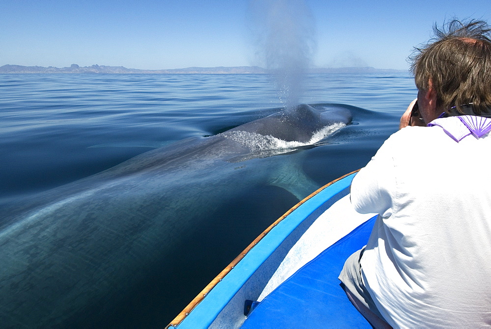
[{"label": "clear blue sky above the mountains, either side of the spout", "polygon": [[[307,0],[319,67],[407,69],[451,17],[491,23],[489,0]],[[249,0],[1,0],[0,66],[249,66]]]}]

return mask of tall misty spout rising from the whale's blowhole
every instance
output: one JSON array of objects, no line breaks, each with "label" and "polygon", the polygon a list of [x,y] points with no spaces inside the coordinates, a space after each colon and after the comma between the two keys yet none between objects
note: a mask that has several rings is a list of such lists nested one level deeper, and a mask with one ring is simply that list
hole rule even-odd
[{"label": "tall misty spout rising from the whale's blowhole", "polygon": [[276,77],[286,109],[296,106],[316,48],[315,22],[304,0],[253,0],[256,56]]}]

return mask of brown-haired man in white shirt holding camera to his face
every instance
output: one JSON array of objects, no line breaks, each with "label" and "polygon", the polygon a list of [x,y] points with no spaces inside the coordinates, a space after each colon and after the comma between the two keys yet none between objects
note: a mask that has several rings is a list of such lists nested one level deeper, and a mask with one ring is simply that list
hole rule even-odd
[{"label": "brown-haired man in white shirt holding camera to his face", "polygon": [[491,27],[453,20],[417,48],[417,99],[351,186],[378,213],[339,278],[376,328],[491,325]]}]

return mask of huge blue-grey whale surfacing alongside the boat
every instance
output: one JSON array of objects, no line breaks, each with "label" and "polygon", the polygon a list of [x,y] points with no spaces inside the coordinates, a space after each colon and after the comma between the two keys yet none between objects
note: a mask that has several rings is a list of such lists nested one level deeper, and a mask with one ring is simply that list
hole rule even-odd
[{"label": "huge blue-grey whale surfacing alongside the boat", "polygon": [[[351,120],[342,106],[302,104],[10,205],[0,223],[1,327],[111,327],[82,319],[114,312],[110,304],[149,276],[174,285],[183,266],[176,258],[186,253],[181,240],[199,235],[224,202],[257,185],[281,187],[299,200],[320,187],[303,173],[301,151],[280,154]],[[169,271],[153,270],[163,264]]]}]

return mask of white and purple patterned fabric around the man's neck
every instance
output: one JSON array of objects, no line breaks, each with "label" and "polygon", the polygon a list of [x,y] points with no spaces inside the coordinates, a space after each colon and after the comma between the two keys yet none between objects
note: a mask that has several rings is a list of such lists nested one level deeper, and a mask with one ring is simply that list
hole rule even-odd
[{"label": "white and purple patterned fabric around the man's neck", "polygon": [[464,137],[473,135],[481,138],[491,131],[491,118],[474,115],[438,118],[428,124],[428,127],[438,126],[454,141],[460,142]]}]

